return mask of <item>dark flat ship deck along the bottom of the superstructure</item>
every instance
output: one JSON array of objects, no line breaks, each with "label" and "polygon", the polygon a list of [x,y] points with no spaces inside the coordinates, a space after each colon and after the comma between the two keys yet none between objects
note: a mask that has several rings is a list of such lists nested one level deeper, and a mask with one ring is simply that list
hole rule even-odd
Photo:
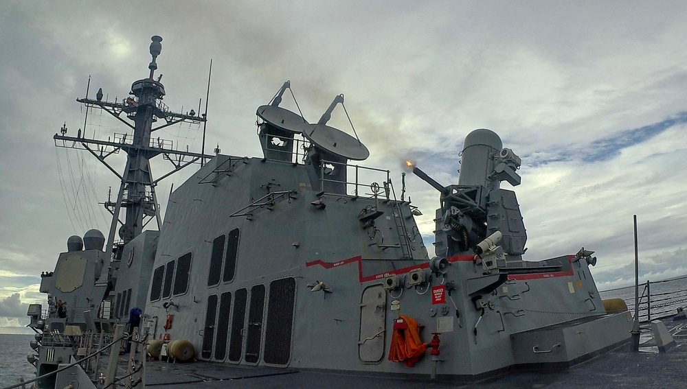
[{"label": "dark flat ship deck along the bottom of the superstructure", "polygon": [[[677,346],[659,353],[651,331],[643,331],[640,352],[624,344],[613,351],[566,370],[519,371],[504,373],[473,384],[424,379],[395,379],[339,373],[249,368],[196,362],[170,364],[147,362],[146,386],[151,388],[666,388],[687,386],[687,322],[666,321]],[[428,372],[429,373],[429,372]]]}]

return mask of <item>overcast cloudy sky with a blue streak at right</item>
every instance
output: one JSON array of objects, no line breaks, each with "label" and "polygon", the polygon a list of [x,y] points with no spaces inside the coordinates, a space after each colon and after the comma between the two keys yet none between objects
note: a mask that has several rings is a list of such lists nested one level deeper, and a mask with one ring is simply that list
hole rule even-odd
[{"label": "overcast cloudy sky with a blue streak at right", "polygon": [[[491,128],[523,161],[525,259],[585,246],[600,289],[628,285],[636,214],[642,280],[687,274],[685,19],[684,1],[3,1],[0,332],[22,331],[26,304],[45,304],[38,275],[69,235],[107,231],[96,203],[116,180],[52,136],[65,122],[73,136],[124,132],[97,111],[85,123],[75,99],[89,75],[91,97],[126,97],[148,75],[153,35],[174,110],[204,106],[213,60],[206,151],[261,156],[255,110],[285,80],[311,122],[343,93],[370,149],[363,165],[395,182],[406,156],[457,182],[464,137]],[[295,110],[290,97],[282,106]],[[330,124],[352,133],[341,108]],[[161,137],[200,149],[193,126]],[[157,161],[155,176],[170,167]],[[188,174],[158,187],[163,208]],[[407,186],[429,237],[437,193],[412,176]]]}]

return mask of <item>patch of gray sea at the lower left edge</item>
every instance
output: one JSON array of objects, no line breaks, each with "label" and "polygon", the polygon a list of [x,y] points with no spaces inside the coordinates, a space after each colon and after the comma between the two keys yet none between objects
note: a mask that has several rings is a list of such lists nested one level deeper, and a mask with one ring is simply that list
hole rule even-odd
[{"label": "patch of gray sea at the lower left edge", "polygon": [[0,333],[0,388],[16,384],[19,377],[35,377],[34,366],[26,362],[26,355],[31,351],[29,342],[33,339],[33,335]]}]

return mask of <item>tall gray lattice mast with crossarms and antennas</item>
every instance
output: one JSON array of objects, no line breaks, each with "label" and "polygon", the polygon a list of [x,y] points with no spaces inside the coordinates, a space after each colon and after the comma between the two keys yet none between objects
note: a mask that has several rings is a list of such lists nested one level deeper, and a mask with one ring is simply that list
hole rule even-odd
[{"label": "tall gray lattice mast with crossarms and antennas", "polygon": [[[133,137],[127,138],[126,134],[119,136],[115,134],[113,141],[110,139],[102,141],[86,139],[85,134],[80,131],[77,137],[67,137],[66,127],[63,128],[61,134],[54,136],[55,144],[58,147],[88,150],[95,158],[98,158],[98,161],[120,178],[120,189],[117,192],[116,202],[108,200],[104,203],[106,209],[113,215],[107,244],[109,253],[112,252],[115,243],[115,231],[117,231],[119,224],[121,226],[118,233],[123,244],[142,233],[144,226],[153,218],[155,218],[158,228],[161,227],[159,204],[155,194],[155,187],[160,180],[192,163],[203,161],[203,158],[211,158],[210,155],[201,153],[174,150],[171,141],[153,137],[153,132],[161,128],[183,121],[202,123],[207,120],[207,117],[205,114],[196,115],[194,110],[185,114],[174,113],[162,102],[165,95],[164,86],[160,82],[162,75],[159,75],[157,80],[154,78],[155,70],[157,70],[157,56],[162,51],[162,38],[153,36],[151,39],[153,43],[150,44],[150,55],[153,56],[153,61],[148,65],[150,75],[148,78],[137,80],[131,85],[131,92],[129,93],[131,97],[127,97],[123,102],[116,102],[116,100],[115,102],[107,102],[102,99],[102,89],[100,89],[95,100],[88,97],[76,99],[87,108],[100,108],[110,113],[133,130]],[[127,119],[133,121],[133,125],[122,118],[122,113],[126,115]],[[153,128],[153,124],[159,119],[164,119],[164,123]],[[105,158],[120,152],[120,150],[126,152],[127,156],[126,167],[124,167],[122,174],[105,161]],[[164,155],[165,159],[174,165],[174,169],[155,180],[150,171],[150,160],[160,154]],[[120,220],[122,208],[124,208],[125,214],[124,222]]]}]

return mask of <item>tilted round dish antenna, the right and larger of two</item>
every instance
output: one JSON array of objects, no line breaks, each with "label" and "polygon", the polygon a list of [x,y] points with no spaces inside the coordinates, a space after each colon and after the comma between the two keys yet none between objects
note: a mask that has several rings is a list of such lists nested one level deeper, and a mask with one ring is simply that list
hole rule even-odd
[{"label": "tilted round dish antenna, the right and larger of two", "polygon": [[363,161],[370,156],[361,141],[326,124],[309,124],[304,127],[303,135],[317,148],[343,158]]}]

